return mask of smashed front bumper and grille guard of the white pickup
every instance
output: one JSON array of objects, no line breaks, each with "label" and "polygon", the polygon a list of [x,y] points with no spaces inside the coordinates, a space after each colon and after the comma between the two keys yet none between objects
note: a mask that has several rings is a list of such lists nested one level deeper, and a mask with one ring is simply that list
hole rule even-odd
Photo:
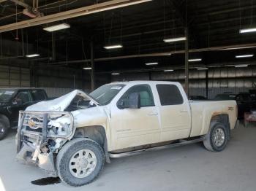
[{"label": "smashed front bumper and grille guard of the white pickup", "polygon": [[[42,115],[42,130],[27,130],[24,122],[26,114],[33,112],[20,112],[18,122],[18,133],[16,137],[17,155],[16,159],[23,164],[34,164],[42,168],[51,176],[58,176],[56,171],[56,155],[61,146],[71,139],[72,134],[66,137],[48,135],[48,114],[68,114],[70,116],[71,128],[73,128],[73,116],[69,112],[35,112]],[[49,114],[49,115],[50,115]]]}]

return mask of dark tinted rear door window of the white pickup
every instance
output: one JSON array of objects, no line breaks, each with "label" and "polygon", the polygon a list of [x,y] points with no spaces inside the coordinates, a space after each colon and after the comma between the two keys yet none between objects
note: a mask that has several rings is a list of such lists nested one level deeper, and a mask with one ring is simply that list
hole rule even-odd
[{"label": "dark tinted rear door window of the white pickup", "polygon": [[184,103],[181,92],[176,85],[158,84],[157,92],[162,106],[181,105]]}]

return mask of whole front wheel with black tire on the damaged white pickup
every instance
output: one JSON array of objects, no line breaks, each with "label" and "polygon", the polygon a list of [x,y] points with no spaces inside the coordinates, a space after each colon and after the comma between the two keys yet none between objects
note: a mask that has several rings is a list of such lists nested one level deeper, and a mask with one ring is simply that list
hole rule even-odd
[{"label": "whole front wheel with black tire on the damaged white pickup", "polygon": [[93,182],[105,163],[102,147],[91,139],[74,139],[57,155],[56,168],[61,180],[80,187]]}]

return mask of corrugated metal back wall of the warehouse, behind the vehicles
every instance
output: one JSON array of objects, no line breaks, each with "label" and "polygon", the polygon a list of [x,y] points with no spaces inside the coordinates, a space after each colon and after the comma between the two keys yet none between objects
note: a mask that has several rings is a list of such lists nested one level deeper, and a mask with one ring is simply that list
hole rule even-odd
[{"label": "corrugated metal back wall of the warehouse, behind the vehicles", "polygon": [[[34,71],[33,71],[34,72]],[[30,79],[30,70],[19,67],[0,66],[0,87],[43,87],[50,97],[69,93],[77,88],[88,90],[91,87],[90,74],[82,70],[63,69],[59,67],[38,68],[35,79]],[[74,78],[75,75],[75,78]],[[112,76],[97,74],[97,87],[110,81],[123,80],[166,80],[184,83],[184,71],[147,72],[121,74]],[[208,98],[214,98],[223,92],[248,92],[256,87],[256,67],[246,68],[218,68],[208,70]],[[189,71],[189,94],[206,96],[206,71]]]}]

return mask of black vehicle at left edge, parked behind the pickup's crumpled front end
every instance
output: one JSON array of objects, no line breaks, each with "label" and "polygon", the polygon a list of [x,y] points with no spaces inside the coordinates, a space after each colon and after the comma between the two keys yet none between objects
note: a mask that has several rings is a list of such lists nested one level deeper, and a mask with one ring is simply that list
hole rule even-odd
[{"label": "black vehicle at left edge, parked behind the pickup's crumpled front end", "polygon": [[0,140],[10,128],[17,128],[20,110],[48,100],[45,90],[37,88],[0,88]]}]

